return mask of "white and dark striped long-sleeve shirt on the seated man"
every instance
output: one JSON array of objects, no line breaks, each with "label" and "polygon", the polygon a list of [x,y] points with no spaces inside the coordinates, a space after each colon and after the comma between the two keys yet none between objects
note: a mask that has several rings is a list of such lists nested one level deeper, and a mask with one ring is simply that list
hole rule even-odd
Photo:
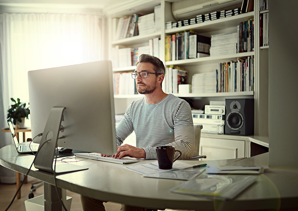
[{"label": "white and dark striped long-sleeve shirt on the seated man", "polygon": [[116,127],[117,146],[136,133],[136,146],[145,150],[145,159],[157,159],[155,147],[174,146],[179,159],[192,157],[195,134],[189,104],[169,94],[161,102],[147,104],[145,97],[133,101]]}]

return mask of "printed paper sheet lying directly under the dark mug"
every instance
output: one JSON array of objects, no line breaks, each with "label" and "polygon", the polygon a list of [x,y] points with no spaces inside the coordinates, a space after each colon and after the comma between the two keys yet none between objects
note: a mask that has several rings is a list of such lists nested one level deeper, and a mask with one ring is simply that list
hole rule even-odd
[{"label": "printed paper sheet lying directly under the dark mug", "polygon": [[[184,168],[189,168],[192,167],[193,165],[184,163],[181,161],[175,161],[173,163],[173,169],[184,169]],[[133,165],[133,166],[124,166],[123,168],[133,171],[135,173],[145,175],[145,174],[153,174],[153,173],[159,173],[159,172],[165,172],[169,170],[165,169],[160,169],[158,168],[158,161],[152,162],[152,163],[147,163],[147,164],[141,164],[141,165]]]}]

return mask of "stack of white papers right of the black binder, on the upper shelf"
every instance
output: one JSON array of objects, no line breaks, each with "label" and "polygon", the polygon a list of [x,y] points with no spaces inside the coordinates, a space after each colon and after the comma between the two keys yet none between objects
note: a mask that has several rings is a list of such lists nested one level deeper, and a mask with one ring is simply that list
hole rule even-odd
[{"label": "stack of white papers right of the black binder, on the upper shelf", "polygon": [[237,33],[211,35],[210,56],[237,53]]}]

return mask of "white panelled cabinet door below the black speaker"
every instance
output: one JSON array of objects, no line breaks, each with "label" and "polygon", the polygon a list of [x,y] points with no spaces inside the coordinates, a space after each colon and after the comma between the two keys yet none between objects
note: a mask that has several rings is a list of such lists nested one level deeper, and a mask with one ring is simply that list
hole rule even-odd
[{"label": "white panelled cabinet door below the black speaker", "polygon": [[244,157],[245,141],[201,137],[199,154],[211,160]]}]

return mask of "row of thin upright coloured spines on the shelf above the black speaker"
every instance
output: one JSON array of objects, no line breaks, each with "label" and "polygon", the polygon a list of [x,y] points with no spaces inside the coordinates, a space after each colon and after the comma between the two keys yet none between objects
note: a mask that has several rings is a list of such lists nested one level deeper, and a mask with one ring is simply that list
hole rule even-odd
[{"label": "row of thin upright coloured spines on the shelf above the black speaker", "polygon": [[218,64],[217,92],[254,91],[254,56]]}]

